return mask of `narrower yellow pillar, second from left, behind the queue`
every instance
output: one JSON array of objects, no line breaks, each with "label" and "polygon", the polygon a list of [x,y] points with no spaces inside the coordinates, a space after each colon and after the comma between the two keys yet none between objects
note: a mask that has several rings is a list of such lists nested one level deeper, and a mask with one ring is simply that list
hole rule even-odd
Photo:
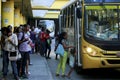
[{"label": "narrower yellow pillar, second from left, behind the queue", "polygon": [[14,12],[14,26],[18,27],[20,25],[20,9],[15,9]]}]

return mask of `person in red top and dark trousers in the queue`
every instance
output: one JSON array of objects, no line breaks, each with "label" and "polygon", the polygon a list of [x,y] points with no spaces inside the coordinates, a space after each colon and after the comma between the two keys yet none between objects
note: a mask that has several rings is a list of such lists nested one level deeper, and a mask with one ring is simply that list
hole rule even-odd
[{"label": "person in red top and dark trousers in the queue", "polygon": [[41,32],[39,34],[39,38],[40,38],[40,54],[41,56],[45,56],[45,52],[46,52],[46,32],[45,32],[45,28],[42,27]]}]

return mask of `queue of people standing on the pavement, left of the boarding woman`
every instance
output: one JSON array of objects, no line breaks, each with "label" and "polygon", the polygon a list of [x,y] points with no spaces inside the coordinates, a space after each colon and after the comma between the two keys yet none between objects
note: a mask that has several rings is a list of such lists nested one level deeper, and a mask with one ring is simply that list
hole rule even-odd
[{"label": "queue of people standing on the pavement, left of the boarding woman", "polygon": [[[29,75],[29,65],[30,62],[30,54],[35,52],[35,45],[38,43],[36,41],[39,39],[39,47],[41,56],[50,59],[51,52],[51,38],[50,31],[41,27],[39,33],[35,32],[35,28],[32,27],[30,30],[30,25],[20,25],[20,27],[13,28],[12,26],[3,27],[2,37],[1,37],[1,47],[2,47],[2,56],[3,56],[3,80],[6,80],[8,73],[8,64],[9,64],[9,54],[11,52],[15,52],[17,49],[21,54],[21,59],[12,60],[11,66],[15,80],[19,80],[19,77],[23,79],[28,79]],[[39,50],[38,49],[38,50]]]}]

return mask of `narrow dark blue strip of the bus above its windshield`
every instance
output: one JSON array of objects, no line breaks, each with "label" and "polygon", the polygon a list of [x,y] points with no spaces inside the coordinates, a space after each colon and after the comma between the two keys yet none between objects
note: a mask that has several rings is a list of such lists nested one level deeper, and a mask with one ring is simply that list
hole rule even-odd
[{"label": "narrow dark blue strip of the bus above its windshield", "polygon": [[120,0],[84,0],[85,3],[118,3]]}]

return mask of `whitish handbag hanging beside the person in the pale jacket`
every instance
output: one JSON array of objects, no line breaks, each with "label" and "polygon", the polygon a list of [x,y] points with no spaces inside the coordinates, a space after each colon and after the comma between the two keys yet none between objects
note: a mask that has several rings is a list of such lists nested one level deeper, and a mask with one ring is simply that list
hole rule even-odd
[{"label": "whitish handbag hanging beside the person in the pale jacket", "polygon": [[17,61],[20,60],[22,58],[21,53],[18,51],[18,49],[14,52],[9,52],[8,54],[8,58],[10,61]]}]

